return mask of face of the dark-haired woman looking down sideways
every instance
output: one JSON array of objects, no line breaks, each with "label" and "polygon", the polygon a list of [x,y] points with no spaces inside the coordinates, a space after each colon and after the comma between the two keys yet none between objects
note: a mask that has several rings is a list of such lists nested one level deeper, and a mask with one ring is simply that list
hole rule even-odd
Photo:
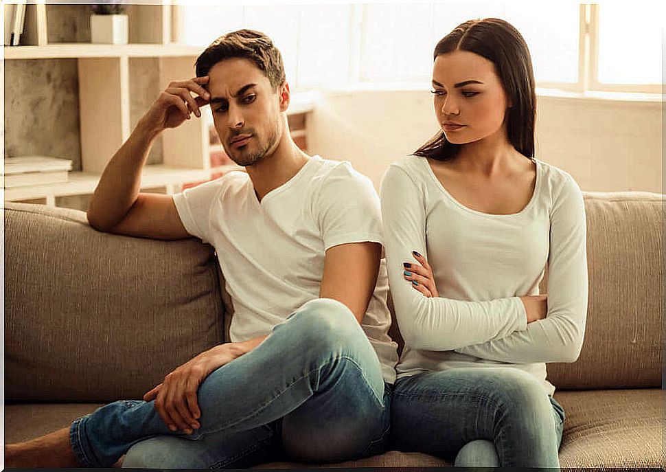
[{"label": "face of the dark-haired woman looking down sideways", "polygon": [[435,114],[446,139],[467,144],[502,133],[510,106],[490,60],[468,51],[441,54],[433,67]]}]

